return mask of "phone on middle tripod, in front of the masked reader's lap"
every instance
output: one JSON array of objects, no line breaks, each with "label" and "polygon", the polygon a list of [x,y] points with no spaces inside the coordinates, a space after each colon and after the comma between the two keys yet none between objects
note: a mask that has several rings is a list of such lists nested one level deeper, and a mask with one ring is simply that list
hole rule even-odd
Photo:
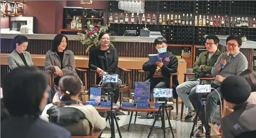
[{"label": "phone on middle tripod, in front of the masked reader's lap", "polygon": [[172,98],[173,89],[171,88],[154,88],[153,97],[155,98]]}]

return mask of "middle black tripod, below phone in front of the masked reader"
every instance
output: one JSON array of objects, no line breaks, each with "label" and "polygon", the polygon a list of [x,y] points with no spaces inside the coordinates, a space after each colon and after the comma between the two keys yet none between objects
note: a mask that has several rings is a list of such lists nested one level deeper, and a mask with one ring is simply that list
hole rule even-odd
[{"label": "middle black tripod, below phone in front of the masked reader", "polygon": [[[159,115],[160,110],[162,110],[162,117],[161,117],[162,127],[161,127],[161,129],[162,129],[163,132],[164,132],[164,138],[165,138],[165,133],[166,133],[165,129],[167,129],[167,128],[165,128],[165,114],[164,114],[164,112],[166,111],[166,113],[167,113],[167,100],[165,99],[165,102],[163,102],[163,103],[161,103],[161,104],[162,104],[162,105],[159,107],[159,109],[158,109],[158,111],[157,111],[157,116]],[[173,136],[173,138],[175,138],[175,137],[174,137],[174,134],[173,134],[173,128],[172,128],[171,122],[170,122],[170,120],[169,120],[168,113],[167,113],[166,115],[167,115],[168,122],[169,122],[169,126],[170,126],[170,127],[168,127],[168,128],[171,129],[172,136]],[[153,130],[153,128],[154,128],[154,125],[155,125],[156,120],[157,120],[157,118],[155,118],[155,120],[154,120],[154,122],[153,122],[153,125],[152,125],[151,128],[150,128],[150,131],[149,131],[149,134],[148,134],[147,138],[149,138],[149,136],[150,136],[150,134],[151,134],[151,132],[152,132],[152,130]]]}]

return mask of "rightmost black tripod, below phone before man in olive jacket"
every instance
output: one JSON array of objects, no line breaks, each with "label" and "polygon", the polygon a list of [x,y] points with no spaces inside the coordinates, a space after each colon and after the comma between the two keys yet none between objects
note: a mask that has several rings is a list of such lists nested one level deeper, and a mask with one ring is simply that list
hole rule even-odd
[{"label": "rightmost black tripod, below phone before man in olive jacket", "polygon": [[[201,93],[199,93],[199,96],[201,97]],[[207,119],[207,115],[206,115],[206,98],[201,98],[201,101],[199,102],[201,106],[203,106],[202,109],[202,131],[205,132],[205,138],[210,138],[210,128],[208,125],[208,119]],[[200,107],[198,107],[197,112],[196,112],[196,116],[195,116],[195,121],[192,127],[192,131],[190,133],[190,138],[192,138],[194,136],[194,129],[195,129],[195,122],[197,121],[197,117],[198,117],[198,113],[200,111]]]}]

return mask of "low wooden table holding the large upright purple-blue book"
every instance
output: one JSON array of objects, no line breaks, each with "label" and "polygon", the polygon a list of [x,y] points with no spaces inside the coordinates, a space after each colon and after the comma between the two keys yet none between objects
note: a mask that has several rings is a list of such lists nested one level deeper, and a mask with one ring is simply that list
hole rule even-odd
[{"label": "low wooden table holding the large upright purple-blue book", "polygon": [[[123,111],[131,111],[130,121],[129,121],[129,125],[128,125],[128,130],[127,130],[128,132],[129,132],[129,129],[130,129],[130,125],[131,125],[131,121],[132,121],[134,111],[136,112],[135,120],[134,120],[134,124],[135,124],[138,112],[157,112],[159,110],[159,108],[154,108],[154,102],[150,102],[150,106],[148,108],[137,108],[136,106],[134,106],[134,107],[122,107],[122,105],[121,105],[120,109],[123,110]],[[173,109],[174,109],[173,107],[167,107],[167,110],[173,110]],[[162,110],[160,110],[160,111],[162,111]],[[171,114],[169,114],[169,115],[171,115]]]}]

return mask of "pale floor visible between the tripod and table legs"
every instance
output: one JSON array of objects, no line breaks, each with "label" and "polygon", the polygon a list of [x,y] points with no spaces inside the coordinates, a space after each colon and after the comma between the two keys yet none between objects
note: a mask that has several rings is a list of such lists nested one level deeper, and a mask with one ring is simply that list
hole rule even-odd
[{"label": "pale floor visible between the tripod and table legs", "polygon": [[[179,105],[179,107],[181,107],[181,104]],[[122,138],[147,138],[148,133],[150,131],[150,127],[153,124],[154,119],[146,119],[146,113],[139,112],[136,119],[136,124],[134,124],[135,115],[133,115],[130,130],[129,132],[127,132],[130,115],[127,115],[128,112],[126,111],[121,111],[121,112],[122,112],[121,115],[118,115],[120,119],[118,120],[118,125],[121,131]],[[177,116],[176,109],[172,110],[172,119],[170,121],[174,130],[174,136],[175,138],[189,138],[193,123],[189,121],[184,121],[184,120],[181,121],[179,118],[181,115],[180,112],[181,112],[181,109],[179,109],[179,115]],[[187,110],[184,109],[184,113],[186,112]],[[183,114],[183,117],[184,117],[184,114]],[[155,126],[161,127],[161,121],[160,120],[156,121]],[[168,120],[165,121],[165,126],[169,127]],[[195,128],[195,130],[196,129],[197,127]],[[194,133],[194,136],[197,132],[198,130]],[[116,135],[115,138],[120,138],[116,127],[115,127],[115,135]],[[103,131],[102,138],[110,138],[110,136],[111,136],[110,125],[109,123],[107,123],[107,127]],[[163,131],[161,129],[155,128],[153,129],[149,138],[164,138]],[[166,138],[172,138],[170,129],[166,129]]]}]

